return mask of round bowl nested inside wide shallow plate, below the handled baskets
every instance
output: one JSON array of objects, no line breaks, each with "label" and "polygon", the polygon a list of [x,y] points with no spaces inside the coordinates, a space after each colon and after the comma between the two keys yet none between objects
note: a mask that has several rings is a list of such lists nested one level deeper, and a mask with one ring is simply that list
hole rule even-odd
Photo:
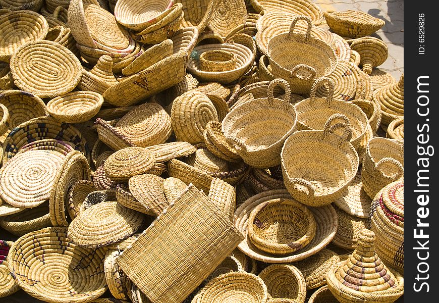
[{"label": "round bowl nested inside wide shallow plate, below the handled baskets", "polygon": [[291,254],[315,236],[314,216],[294,200],[265,201],[252,210],[248,220],[250,240],[269,254]]}]

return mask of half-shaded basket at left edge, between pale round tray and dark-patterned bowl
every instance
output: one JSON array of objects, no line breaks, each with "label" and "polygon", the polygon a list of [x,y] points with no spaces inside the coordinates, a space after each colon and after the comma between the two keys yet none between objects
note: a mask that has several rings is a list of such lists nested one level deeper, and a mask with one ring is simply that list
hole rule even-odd
[{"label": "half-shaded basket at left edge, between pale round tray and dark-patterned bowl", "polygon": [[51,226],[48,203],[0,218],[0,227],[16,236],[48,226]]}]

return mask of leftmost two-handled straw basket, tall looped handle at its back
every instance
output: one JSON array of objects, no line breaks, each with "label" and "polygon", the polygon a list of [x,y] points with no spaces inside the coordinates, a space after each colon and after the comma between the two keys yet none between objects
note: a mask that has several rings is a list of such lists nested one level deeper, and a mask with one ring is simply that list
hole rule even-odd
[{"label": "leftmost two-handled straw basket, tall looped handle at its back", "polygon": [[[273,97],[276,85],[285,89],[284,100]],[[288,83],[282,79],[271,81],[267,95],[236,107],[227,114],[222,125],[229,144],[247,164],[256,168],[279,165],[282,145],[296,129],[297,114],[290,104]]]}]

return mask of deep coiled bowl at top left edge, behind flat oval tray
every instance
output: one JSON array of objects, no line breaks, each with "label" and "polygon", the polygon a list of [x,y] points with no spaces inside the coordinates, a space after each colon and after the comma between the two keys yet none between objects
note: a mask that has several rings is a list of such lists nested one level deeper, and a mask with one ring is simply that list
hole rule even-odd
[{"label": "deep coiled bowl at top left edge, behind flat oval tray", "polygon": [[0,17],[0,25],[0,60],[5,62],[21,45],[44,39],[49,30],[44,17],[32,11],[6,13]]}]

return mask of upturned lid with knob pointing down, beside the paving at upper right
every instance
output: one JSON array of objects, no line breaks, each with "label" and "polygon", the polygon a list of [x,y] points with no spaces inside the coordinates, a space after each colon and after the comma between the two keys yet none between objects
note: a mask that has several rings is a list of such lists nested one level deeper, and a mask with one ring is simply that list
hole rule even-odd
[{"label": "upturned lid with knob pointing down, beside the paving at upper right", "polygon": [[389,55],[387,44],[375,37],[355,39],[351,48],[360,54],[360,65],[366,74],[370,74],[372,68],[383,64]]}]

